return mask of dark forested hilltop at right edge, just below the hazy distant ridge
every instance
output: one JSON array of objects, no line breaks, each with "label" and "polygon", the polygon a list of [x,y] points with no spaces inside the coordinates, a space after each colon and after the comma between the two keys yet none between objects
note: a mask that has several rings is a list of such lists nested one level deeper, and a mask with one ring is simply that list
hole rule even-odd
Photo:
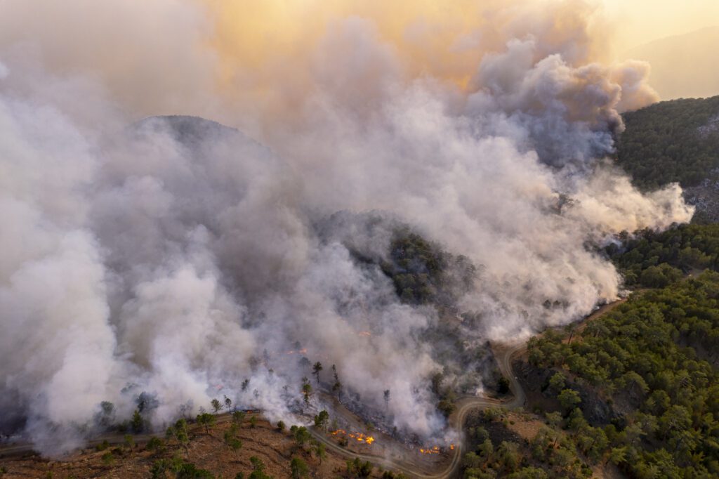
[{"label": "dark forested hilltop at right edge, just below the hazy distant ridge", "polygon": [[623,117],[616,160],[640,188],[697,186],[719,167],[719,96],[661,101]]}]

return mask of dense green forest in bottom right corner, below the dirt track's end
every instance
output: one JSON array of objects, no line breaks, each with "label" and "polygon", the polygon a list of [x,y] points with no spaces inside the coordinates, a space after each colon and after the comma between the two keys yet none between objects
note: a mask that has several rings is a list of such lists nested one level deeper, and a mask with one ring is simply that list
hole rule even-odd
[{"label": "dense green forest in bottom right corner, below the dirt track's end", "polygon": [[[633,478],[719,477],[719,273],[638,294],[565,339],[531,339],[529,361],[556,371],[546,388],[559,426],[590,462]],[[585,420],[587,388],[615,409],[606,424]]]}]

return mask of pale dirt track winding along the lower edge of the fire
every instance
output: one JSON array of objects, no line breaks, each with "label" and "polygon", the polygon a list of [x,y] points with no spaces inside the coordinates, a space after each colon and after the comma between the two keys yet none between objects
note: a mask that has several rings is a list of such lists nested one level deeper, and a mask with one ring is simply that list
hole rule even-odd
[{"label": "pale dirt track winding along the lower edge of the fire", "polygon": [[[615,306],[618,306],[624,301],[626,301],[626,298],[614,301],[610,304],[606,304],[600,309],[597,309],[597,311],[582,320],[578,329],[582,329],[588,321],[597,319],[598,317],[602,316],[608,311],[611,311],[615,308]],[[477,396],[464,396],[460,398],[459,401],[457,401],[456,403],[457,409],[454,411],[454,413],[452,413],[451,416],[449,416],[449,426],[456,431],[462,431],[464,426],[464,420],[467,418],[467,414],[469,414],[475,409],[485,409],[492,406],[503,406],[508,409],[516,409],[523,406],[524,402],[526,401],[526,395],[524,393],[524,390],[512,370],[512,360],[514,357],[522,355],[524,352],[526,352],[526,342],[520,342],[516,345],[497,345],[494,349],[500,371],[505,376],[505,378],[509,379],[509,387],[512,396],[505,401],[500,401],[494,398],[482,398]],[[229,419],[229,414],[221,414],[218,416],[217,421],[225,422],[229,421]],[[421,465],[413,464],[408,460],[395,460],[393,458],[385,457],[384,455],[373,455],[349,451],[347,449],[344,449],[344,447],[340,447],[338,444],[336,444],[336,442],[334,442],[331,438],[327,437],[322,432],[313,428],[308,428],[308,430],[309,432],[311,432],[311,434],[317,441],[325,444],[326,448],[334,452],[336,455],[347,457],[348,459],[354,459],[354,457],[359,457],[359,459],[361,460],[368,460],[370,462],[374,462],[377,465],[382,465],[386,468],[398,470],[411,478],[443,479],[455,477],[459,471],[459,465],[463,457],[462,451],[464,448],[464,444],[462,444],[462,441],[460,440],[459,443],[454,447],[454,455],[452,456],[452,461],[449,463],[449,465],[447,465],[444,470],[431,472],[428,470],[421,470],[423,468]],[[135,436],[134,439],[135,442],[146,442],[153,436],[157,436],[157,434],[141,434]],[[92,447],[97,444],[101,444],[104,441],[107,441],[110,444],[122,444],[124,442],[124,435],[114,434],[99,437],[88,442],[88,446]],[[32,444],[10,444],[4,447],[0,446],[0,457],[20,455],[32,451]]]}]

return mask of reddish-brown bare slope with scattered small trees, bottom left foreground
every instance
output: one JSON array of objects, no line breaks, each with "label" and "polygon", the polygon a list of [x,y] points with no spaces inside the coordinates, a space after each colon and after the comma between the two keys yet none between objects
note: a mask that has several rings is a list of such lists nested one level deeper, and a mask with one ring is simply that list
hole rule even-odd
[{"label": "reddish-brown bare slope with scattered small trees, bottom left foreground", "polygon": [[[183,447],[177,439],[147,442],[137,437],[125,444],[99,444],[63,457],[49,460],[33,453],[2,457],[0,477],[6,478],[288,478],[291,462],[300,459],[313,477],[346,477],[347,462],[331,450],[318,452],[316,445],[300,445],[293,435],[250,415],[232,428],[230,421],[218,420],[209,430],[198,424],[188,427]],[[239,439],[233,451],[227,434]],[[135,437],[133,437],[135,438]],[[321,456],[321,457],[320,457]],[[383,474],[379,467],[369,469],[367,477]],[[258,472],[259,471],[259,472]],[[393,473],[386,473],[393,478]]]}]

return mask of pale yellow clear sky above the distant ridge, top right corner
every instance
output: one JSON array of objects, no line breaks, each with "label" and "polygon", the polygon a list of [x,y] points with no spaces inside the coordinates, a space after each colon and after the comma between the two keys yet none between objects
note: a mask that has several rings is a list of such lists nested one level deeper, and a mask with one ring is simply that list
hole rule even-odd
[{"label": "pale yellow clear sky above the distant ridge, top right corner", "polygon": [[717,0],[603,0],[618,55],[651,40],[719,25]]}]

